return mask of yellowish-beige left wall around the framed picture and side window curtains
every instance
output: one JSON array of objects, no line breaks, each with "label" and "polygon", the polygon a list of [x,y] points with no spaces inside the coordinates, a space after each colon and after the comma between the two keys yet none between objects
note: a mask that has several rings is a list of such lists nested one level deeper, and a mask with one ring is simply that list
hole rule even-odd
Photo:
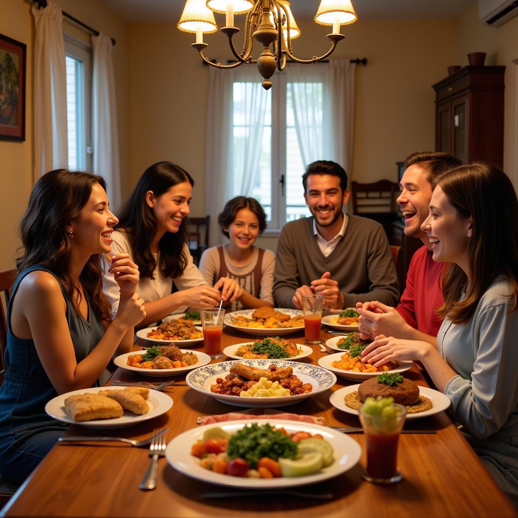
[{"label": "yellowish-beige left wall around the framed picture and side window curtains", "polygon": [[[127,179],[130,169],[130,26],[108,9],[100,0],[56,0],[56,4],[82,22],[104,32],[117,40],[113,48],[113,63],[117,88],[117,111],[119,125],[120,163],[123,195],[132,189]],[[33,167],[33,48],[34,22],[30,1],[0,0],[0,33],[27,45],[25,141],[0,140],[0,269],[14,267],[16,249],[19,246],[18,224],[27,206],[28,196],[34,184]],[[68,21],[63,22],[65,31],[83,41],[90,42],[88,33]]]}]

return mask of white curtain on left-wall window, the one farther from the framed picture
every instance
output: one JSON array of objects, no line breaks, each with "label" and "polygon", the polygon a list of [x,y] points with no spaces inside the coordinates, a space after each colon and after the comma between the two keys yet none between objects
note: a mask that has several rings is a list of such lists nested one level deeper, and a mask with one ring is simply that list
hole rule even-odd
[{"label": "white curtain on left-wall window, the one farther from the framed picture", "polygon": [[112,210],[121,205],[119,133],[111,39],[105,34],[92,36],[92,133],[93,170],[108,184]]}]

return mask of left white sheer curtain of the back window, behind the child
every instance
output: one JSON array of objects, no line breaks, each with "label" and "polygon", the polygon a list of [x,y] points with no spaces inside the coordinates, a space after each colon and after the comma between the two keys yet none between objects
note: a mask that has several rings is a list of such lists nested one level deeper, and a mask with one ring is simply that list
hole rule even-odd
[{"label": "left white sheer curtain of the back window, behind the child", "polygon": [[[240,88],[239,147],[234,146],[234,83]],[[267,92],[257,82],[257,69],[243,65],[236,69],[210,68],[205,199],[211,215],[210,245],[224,242],[217,214],[234,196],[251,196],[257,180],[259,155],[266,115]]]}]

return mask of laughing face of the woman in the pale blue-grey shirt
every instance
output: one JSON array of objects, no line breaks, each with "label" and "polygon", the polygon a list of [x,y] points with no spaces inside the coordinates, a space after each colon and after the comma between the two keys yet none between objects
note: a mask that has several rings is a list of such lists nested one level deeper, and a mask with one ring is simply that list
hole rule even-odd
[{"label": "laughing face of the woman in the pale blue-grey shirt", "polygon": [[430,240],[434,261],[456,263],[469,276],[468,246],[472,220],[459,217],[440,185],[431,196],[430,213],[421,228]]}]

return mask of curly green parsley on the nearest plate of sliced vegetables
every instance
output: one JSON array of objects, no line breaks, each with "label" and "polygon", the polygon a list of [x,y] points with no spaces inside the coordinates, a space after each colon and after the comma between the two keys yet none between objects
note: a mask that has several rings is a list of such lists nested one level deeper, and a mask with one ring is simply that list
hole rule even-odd
[{"label": "curly green parsley on the nearest plate of sliced vegetables", "polygon": [[230,459],[244,458],[250,468],[254,469],[262,457],[270,457],[276,461],[279,457],[295,458],[297,443],[268,423],[253,423],[241,428],[228,439],[226,454]]}]

